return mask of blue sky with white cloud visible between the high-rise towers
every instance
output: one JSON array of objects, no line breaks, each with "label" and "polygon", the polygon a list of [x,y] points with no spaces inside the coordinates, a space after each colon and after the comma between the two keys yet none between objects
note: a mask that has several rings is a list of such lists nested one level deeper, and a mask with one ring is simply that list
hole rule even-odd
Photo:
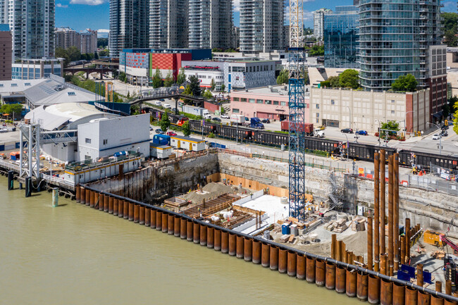
[{"label": "blue sky with white cloud visible between the high-rise towers", "polygon": [[[238,6],[234,0],[234,23],[239,25]],[[288,3],[288,1],[286,1]],[[456,1],[443,1],[442,11],[456,12]],[[313,27],[312,12],[318,8],[334,9],[336,5],[352,5],[352,0],[304,0],[304,25]],[[84,30],[109,28],[109,0],[56,0],[56,27]]]}]

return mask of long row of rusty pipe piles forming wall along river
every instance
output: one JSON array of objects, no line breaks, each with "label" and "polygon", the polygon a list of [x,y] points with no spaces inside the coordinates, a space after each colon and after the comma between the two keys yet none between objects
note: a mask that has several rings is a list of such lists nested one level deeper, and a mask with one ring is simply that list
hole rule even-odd
[{"label": "long row of rusty pipe piles forming wall along river", "polygon": [[[425,290],[423,287],[369,270],[364,265],[363,258],[345,251],[345,244],[337,242],[335,236],[333,259],[276,244],[259,236],[221,228],[182,213],[100,192],[87,186],[76,189],[76,201],[202,247],[315,283],[318,287],[369,301],[371,304],[458,305],[457,297]],[[340,246],[336,247],[336,244]],[[451,292],[451,283],[447,282],[447,287],[446,291]]]}]

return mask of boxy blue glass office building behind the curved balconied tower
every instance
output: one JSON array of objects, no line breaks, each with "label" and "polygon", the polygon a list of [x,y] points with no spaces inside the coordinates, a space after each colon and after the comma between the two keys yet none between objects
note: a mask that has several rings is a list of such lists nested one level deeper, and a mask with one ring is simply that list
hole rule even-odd
[{"label": "boxy blue glass office building behind the curved balconied tower", "polygon": [[324,15],[324,66],[326,68],[359,68],[357,63],[358,8],[336,6]]}]

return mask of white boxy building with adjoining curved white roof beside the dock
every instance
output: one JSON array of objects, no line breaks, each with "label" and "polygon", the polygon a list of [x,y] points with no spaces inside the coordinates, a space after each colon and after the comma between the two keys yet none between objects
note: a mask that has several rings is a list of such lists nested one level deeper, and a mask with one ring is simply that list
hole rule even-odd
[{"label": "white boxy building with adjoining curved white roof beside the dock", "polygon": [[41,146],[44,154],[61,161],[97,161],[118,151],[149,156],[149,114],[120,117],[89,104],[63,103],[39,106],[25,120],[39,123],[44,132],[68,130],[70,141]]}]

